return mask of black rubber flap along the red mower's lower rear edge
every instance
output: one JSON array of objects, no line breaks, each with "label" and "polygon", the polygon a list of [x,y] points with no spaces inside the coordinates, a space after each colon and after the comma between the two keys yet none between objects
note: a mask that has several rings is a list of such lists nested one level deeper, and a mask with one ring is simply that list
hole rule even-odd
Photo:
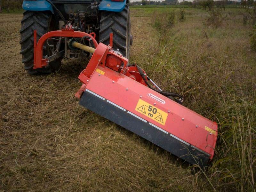
[{"label": "black rubber flap along the red mower's lower rear edge", "polygon": [[199,164],[203,167],[208,163],[209,154],[94,92],[86,90],[79,104],[125,129],[136,133],[190,164]]}]

